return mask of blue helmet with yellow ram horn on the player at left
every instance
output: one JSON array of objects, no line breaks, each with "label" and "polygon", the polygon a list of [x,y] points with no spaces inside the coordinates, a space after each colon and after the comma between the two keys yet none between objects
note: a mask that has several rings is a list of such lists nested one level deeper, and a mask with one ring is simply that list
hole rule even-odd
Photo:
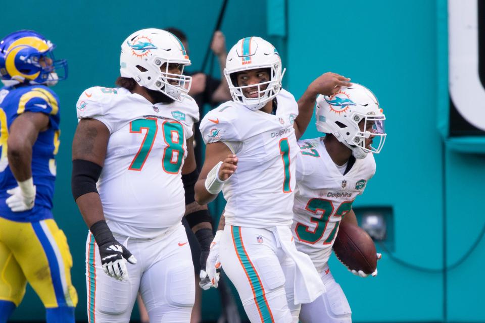
[{"label": "blue helmet with yellow ram horn on the player at left", "polygon": [[7,86],[54,85],[67,78],[66,60],[55,60],[56,46],[32,30],[19,30],[0,41],[0,76]]}]

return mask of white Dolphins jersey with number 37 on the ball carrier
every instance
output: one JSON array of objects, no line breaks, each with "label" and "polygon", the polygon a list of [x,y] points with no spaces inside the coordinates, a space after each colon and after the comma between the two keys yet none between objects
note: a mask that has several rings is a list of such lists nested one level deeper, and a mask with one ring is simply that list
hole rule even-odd
[{"label": "white Dolphins jersey with number 37 on the ball carrier", "polygon": [[308,254],[320,271],[327,265],[340,221],[375,173],[375,160],[368,153],[342,175],[320,138],[298,144],[301,153],[297,157],[292,232],[297,249]]}]

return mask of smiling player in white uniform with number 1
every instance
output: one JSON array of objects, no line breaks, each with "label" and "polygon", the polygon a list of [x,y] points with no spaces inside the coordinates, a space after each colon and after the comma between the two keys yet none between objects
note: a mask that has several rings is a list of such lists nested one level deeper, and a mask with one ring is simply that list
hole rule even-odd
[{"label": "smiling player in white uniform with number 1", "polygon": [[[221,189],[227,200],[227,225],[217,232],[211,252],[220,252],[251,322],[297,322],[300,304],[324,291],[290,231],[297,138],[310,122],[317,94],[330,95],[350,85],[349,79],[326,73],[297,103],[281,89],[284,71],[277,50],[259,37],[243,38],[232,47],[224,74],[233,101],[201,122],[207,147],[196,184],[199,203],[214,199]],[[215,262],[208,265],[215,286]]]}]

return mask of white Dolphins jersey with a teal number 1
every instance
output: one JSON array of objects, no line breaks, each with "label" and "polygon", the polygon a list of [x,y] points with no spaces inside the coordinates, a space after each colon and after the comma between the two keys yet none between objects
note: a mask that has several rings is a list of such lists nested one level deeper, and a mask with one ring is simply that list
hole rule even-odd
[{"label": "white Dolphins jersey with a teal number 1", "polygon": [[224,142],[239,159],[222,188],[230,225],[268,228],[292,223],[298,104],[285,90],[276,100],[276,115],[228,101],[201,122],[204,142]]}]

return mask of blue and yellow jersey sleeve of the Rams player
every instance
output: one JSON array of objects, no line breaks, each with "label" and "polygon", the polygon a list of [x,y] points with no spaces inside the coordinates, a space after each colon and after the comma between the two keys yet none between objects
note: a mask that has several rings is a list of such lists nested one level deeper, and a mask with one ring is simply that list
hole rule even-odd
[{"label": "blue and yellow jersey sleeve of the Rams player", "polygon": [[59,130],[59,98],[53,90],[46,86],[34,87],[22,94],[19,100],[17,114],[25,112],[43,113],[49,116],[51,127]]}]

